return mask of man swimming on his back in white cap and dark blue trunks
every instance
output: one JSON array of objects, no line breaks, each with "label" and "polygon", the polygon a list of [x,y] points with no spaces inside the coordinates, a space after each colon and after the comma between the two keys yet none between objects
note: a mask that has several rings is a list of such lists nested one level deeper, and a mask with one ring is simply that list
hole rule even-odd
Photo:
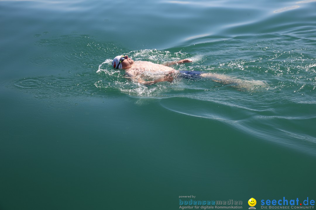
[{"label": "man swimming on his back in white cap and dark blue trunks", "polygon": [[259,80],[241,80],[223,74],[203,73],[200,71],[178,71],[169,67],[170,65],[190,62],[192,60],[184,59],[161,65],[149,61],[134,61],[128,55],[118,55],[113,59],[112,66],[114,69],[124,69],[127,78],[144,85],[152,85],[157,82],[172,82],[177,76],[184,78],[206,77],[215,82],[230,84],[236,88],[251,89],[267,85],[265,82]]}]

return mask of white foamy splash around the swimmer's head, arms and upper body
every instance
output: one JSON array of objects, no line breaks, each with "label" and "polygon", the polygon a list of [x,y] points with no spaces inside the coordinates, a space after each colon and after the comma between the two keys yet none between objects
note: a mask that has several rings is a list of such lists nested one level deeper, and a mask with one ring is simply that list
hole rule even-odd
[{"label": "white foamy splash around the swimmer's head, arms and upper body", "polygon": [[[157,49],[130,51],[127,54],[135,61],[143,60],[161,64],[192,57],[189,54],[181,52],[171,53],[169,51]],[[197,61],[201,59],[201,56],[192,57],[192,60],[193,59]],[[124,71],[113,69],[111,64],[112,60],[106,59],[99,65],[96,73],[98,73],[101,78],[94,83],[94,86],[96,88],[105,91],[119,90],[121,93],[129,94],[132,96],[162,97],[166,94],[167,90],[172,88],[173,86],[173,84],[170,84],[168,82],[163,82],[151,86],[145,86],[137,82],[133,82],[126,78],[126,76],[124,75]],[[176,68],[176,66],[174,67]],[[144,78],[158,79],[161,78],[161,73],[144,72],[141,76]]]}]

